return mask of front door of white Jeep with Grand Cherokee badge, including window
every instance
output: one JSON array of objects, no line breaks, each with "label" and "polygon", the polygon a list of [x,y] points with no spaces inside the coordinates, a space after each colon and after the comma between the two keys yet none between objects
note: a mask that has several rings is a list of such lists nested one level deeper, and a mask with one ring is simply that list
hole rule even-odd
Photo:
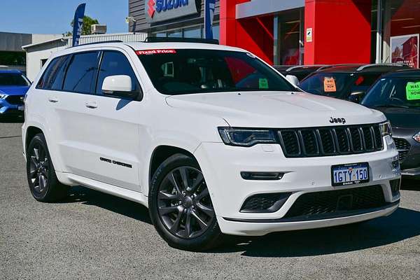
[{"label": "front door of white Jeep with Grand Cherokee badge, including window", "polygon": [[106,50],[100,53],[99,60],[97,83],[92,86],[94,94],[81,95],[83,118],[78,120],[81,133],[76,142],[82,142],[83,148],[76,152],[69,149],[67,157],[73,156],[73,172],[80,176],[141,191],[139,118],[143,103],[106,96],[102,94],[102,83],[107,76],[127,75],[132,78],[134,90],[141,92],[141,87],[123,52]]}]

